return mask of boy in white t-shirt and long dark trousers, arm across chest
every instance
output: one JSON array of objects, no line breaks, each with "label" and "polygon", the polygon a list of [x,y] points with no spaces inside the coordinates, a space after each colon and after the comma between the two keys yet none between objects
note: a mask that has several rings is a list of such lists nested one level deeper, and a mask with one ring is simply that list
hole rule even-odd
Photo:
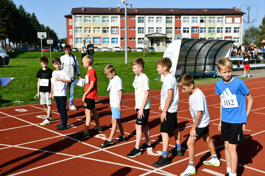
[{"label": "boy in white t-shirt and long dark trousers, arm across chest", "polygon": [[71,83],[71,79],[68,74],[61,69],[60,58],[53,59],[53,66],[56,70],[53,71],[52,78],[52,98],[56,101],[57,110],[61,115],[62,123],[57,125],[57,131],[62,131],[67,129],[67,110],[66,110],[66,100],[67,100],[67,87],[66,83]]}]

